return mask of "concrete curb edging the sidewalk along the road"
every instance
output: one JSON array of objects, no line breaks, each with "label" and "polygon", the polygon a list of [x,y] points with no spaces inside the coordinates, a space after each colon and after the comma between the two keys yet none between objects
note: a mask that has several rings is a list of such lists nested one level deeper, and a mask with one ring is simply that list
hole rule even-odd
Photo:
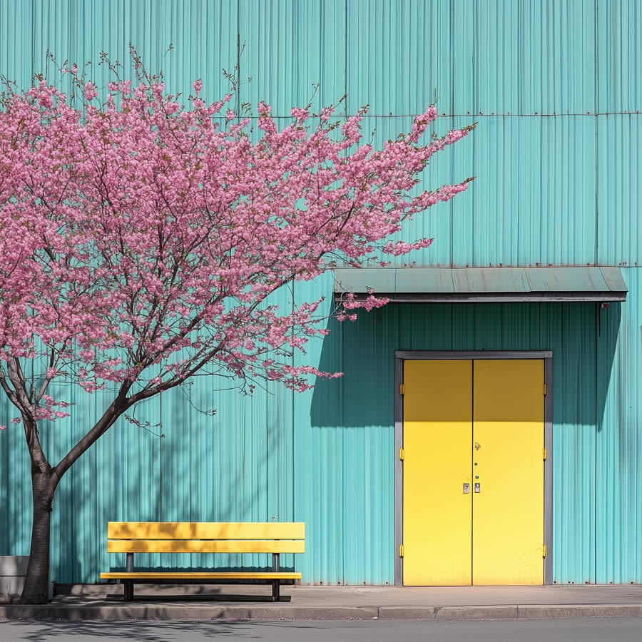
[{"label": "concrete curb edging the sidewalk along the road", "polygon": [[215,604],[131,606],[0,606],[0,620],[551,620],[642,618],[642,604],[524,606],[236,606]]}]

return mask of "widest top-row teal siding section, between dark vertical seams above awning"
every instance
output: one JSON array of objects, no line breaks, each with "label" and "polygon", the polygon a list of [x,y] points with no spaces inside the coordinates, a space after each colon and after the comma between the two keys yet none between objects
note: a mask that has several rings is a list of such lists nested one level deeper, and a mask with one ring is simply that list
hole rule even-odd
[{"label": "widest top-row teal siding section, between dark vertical seams above awning", "polygon": [[587,113],[595,106],[592,1],[350,0],[350,111]]}]

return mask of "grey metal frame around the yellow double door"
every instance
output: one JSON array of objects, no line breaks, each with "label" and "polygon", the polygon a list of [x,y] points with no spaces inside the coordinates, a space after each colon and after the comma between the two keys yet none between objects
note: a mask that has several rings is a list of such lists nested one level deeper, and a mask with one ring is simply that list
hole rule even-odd
[{"label": "grey metal frame around the yellow double door", "polygon": [[404,469],[399,451],[404,447],[404,402],[401,384],[404,382],[404,361],[407,360],[482,360],[537,359],[544,360],[544,584],[553,584],[553,351],[394,351],[394,586],[403,585],[403,558],[399,547],[404,535]]}]

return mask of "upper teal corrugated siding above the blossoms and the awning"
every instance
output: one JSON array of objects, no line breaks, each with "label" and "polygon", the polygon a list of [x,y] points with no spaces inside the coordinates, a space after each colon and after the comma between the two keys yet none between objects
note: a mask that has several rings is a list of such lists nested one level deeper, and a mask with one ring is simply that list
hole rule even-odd
[{"label": "upper teal corrugated siding above the blossoms and the awning", "polygon": [[437,99],[459,116],[437,131],[480,123],[424,185],[478,179],[427,215],[420,225],[436,242],[414,260],[636,265],[641,14],[635,0],[1,0],[0,70],[24,85],[49,49],[59,61],[91,59],[106,81],[100,51],[131,73],[132,41],[173,91],[188,95],[200,77],[213,99],[228,89],[220,70],[233,69],[239,46],[241,102],[267,100],[287,116],[320,82],[315,106],[344,91],[350,113],[370,103],[378,140]]}]

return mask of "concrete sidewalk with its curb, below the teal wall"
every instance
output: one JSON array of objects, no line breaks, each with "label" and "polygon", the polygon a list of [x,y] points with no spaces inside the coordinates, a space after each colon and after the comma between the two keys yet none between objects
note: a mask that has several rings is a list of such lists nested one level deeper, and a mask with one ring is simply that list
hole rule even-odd
[{"label": "concrete sidewalk with its curb, below the teal wall", "polygon": [[118,584],[60,587],[49,604],[0,605],[0,619],[306,620],[549,619],[642,617],[641,585],[606,586],[136,586],[123,603]]}]

